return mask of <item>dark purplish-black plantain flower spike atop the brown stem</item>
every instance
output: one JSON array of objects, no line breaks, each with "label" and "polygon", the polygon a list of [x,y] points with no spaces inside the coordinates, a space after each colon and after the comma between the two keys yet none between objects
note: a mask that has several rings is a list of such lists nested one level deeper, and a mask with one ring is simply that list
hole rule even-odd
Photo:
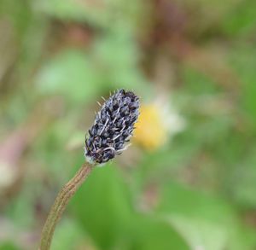
[{"label": "dark purplish-black plantain flower spike atop the brown stem", "polygon": [[126,148],[139,115],[139,98],[131,91],[117,90],[96,114],[85,137],[85,157],[90,163],[105,163]]}]

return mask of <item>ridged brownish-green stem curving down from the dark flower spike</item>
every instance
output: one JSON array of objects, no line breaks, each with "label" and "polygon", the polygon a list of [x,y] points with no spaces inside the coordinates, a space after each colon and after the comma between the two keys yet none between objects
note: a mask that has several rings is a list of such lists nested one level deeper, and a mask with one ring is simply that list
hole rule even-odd
[{"label": "ridged brownish-green stem curving down from the dark flower spike", "polygon": [[75,174],[75,176],[61,189],[57,195],[53,206],[49,211],[48,218],[44,224],[44,229],[41,235],[39,250],[49,250],[52,237],[55,232],[55,226],[61,218],[68,201],[73,197],[79,189],[86,177],[89,176],[94,165],[85,162]]}]

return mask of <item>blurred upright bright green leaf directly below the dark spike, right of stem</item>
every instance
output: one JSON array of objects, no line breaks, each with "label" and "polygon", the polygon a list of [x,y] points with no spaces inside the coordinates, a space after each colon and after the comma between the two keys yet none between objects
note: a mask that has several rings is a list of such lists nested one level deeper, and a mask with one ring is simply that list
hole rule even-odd
[{"label": "blurred upright bright green leaf directly below the dark spike, right of stem", "polygon": [[129,192],[116,166],[92,172],[73,200],[73,211],[102,249],[113,247],[131,219]]}]

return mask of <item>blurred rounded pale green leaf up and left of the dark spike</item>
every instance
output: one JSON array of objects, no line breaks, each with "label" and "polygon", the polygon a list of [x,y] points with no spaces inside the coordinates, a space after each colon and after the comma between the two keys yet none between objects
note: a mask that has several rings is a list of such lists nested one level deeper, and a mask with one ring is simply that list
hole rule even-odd
[{"label": "blurred rounded pale green leaf up and left of the dark spike", "polygon": [[67,49],[45,63],[36,80],[44,94],[61,94],[73,102],[95,100],[100,90],[96,68],[91,67],[86,54]]}]

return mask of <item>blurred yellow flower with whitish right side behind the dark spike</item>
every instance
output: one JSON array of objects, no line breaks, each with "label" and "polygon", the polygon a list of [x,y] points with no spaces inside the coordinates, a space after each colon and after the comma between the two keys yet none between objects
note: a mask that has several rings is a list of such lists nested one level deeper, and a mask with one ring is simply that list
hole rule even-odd
[{"label": "blurred yellow flower with whitish right side behind the dark spike", "polygon": [[183,119],[163,103],[143,104],[134,132],[134,142],[147,150],[155,150],[168,138],[183,130]]}]

